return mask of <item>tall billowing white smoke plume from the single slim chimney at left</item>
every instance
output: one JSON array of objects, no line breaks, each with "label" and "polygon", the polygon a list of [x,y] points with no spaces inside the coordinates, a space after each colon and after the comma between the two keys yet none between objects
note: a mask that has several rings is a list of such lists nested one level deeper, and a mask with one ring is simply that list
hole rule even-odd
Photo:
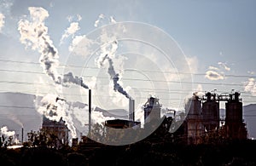
[{"label": "tall billowing white smoke plume from the single slim chimney at left", "polygon": [[18,25],[20,42],[26,44],[26,47],[38,50],[41,54],[39,61],[44,68],[44,72],[46,72],[55,83],[75,83],[88,89],[88,87],[84,85],[82,77],[73,77],[72,73],[67,73],[62,78],[57,72],[56,68],[59,65],[58,50],[49,38],[48,27],[44,25],[44,20],[49,17],[48,11],[36,7],[30,7],[28,9],[31,15],[31,21],[20,20]]}]

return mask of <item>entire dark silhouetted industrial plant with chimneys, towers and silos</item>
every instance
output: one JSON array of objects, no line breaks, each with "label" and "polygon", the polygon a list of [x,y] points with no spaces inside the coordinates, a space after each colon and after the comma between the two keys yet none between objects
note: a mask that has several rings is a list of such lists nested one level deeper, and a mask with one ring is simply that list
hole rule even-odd
[{"label": "entire dark silhouetted industrial plant with chimneys, towers and silos", "polygon": [[[222,112],[222,116],[220,115],[221,102],[225,104],[225,112]],[[78,146],[79,143],[86,146],[86,143],[94,141],[91,138],[91,132],[96,132],[93,130],[95,124],[91,124],[91,113],[93,113],[91,112],[91,90],[89,90],[88,107],[89,117],[84,117],[89,118],[88,135],[81,135],[80,142],[78,138],[73,138],[73,146]],[[240,93],[234,90],[224,94],[217,94],[216,91],[206,92],[203,95],[194,93],[185,103],[184,112],[170,109],[171,113],[166,112],[164,116],[161,116],[161,107],[160,99],[149,96],[143,105],[143,123],[135,121],[135,100],[130,98],[128,119],[106,120],[103,124],[103,133],[106,135],[109,129],[134,129],[143,133],[145,129],[152,126],[154,126],[154,130],[166,126],[162,129],[165,129],[166,133],[169,133],[168,135],[172,135],[172,137],[168,137],[170,141],[186,145],[202,144],[210,139],[247,140],[247,128],[243,120]],[[155,122],[159,123],[156,124],[156,127]],[[45,135],[55,135],[57,140],[55,146],[68,145],[69,129],[62,119],[56,122],[44,117],[40,131],[44,132]],[[160,133],[158,135],[163,136],[165,132]]]}]

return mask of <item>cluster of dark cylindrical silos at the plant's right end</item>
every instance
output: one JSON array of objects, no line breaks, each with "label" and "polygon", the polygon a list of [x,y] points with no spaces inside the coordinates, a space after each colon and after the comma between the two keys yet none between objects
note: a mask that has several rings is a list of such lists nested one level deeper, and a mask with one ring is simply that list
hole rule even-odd
[{"label": "cluster of dark cylindrical silos at the plant's right end", "polygon": [[[220,118],[219,104],[225,102],[225,117]],[[210,137],[217,140],[246,140],[246,123],[242,116],[240,93],[196,93],[185,104],[186,117],[177,129],[177,137],[186,144],[201,144]]]}]

